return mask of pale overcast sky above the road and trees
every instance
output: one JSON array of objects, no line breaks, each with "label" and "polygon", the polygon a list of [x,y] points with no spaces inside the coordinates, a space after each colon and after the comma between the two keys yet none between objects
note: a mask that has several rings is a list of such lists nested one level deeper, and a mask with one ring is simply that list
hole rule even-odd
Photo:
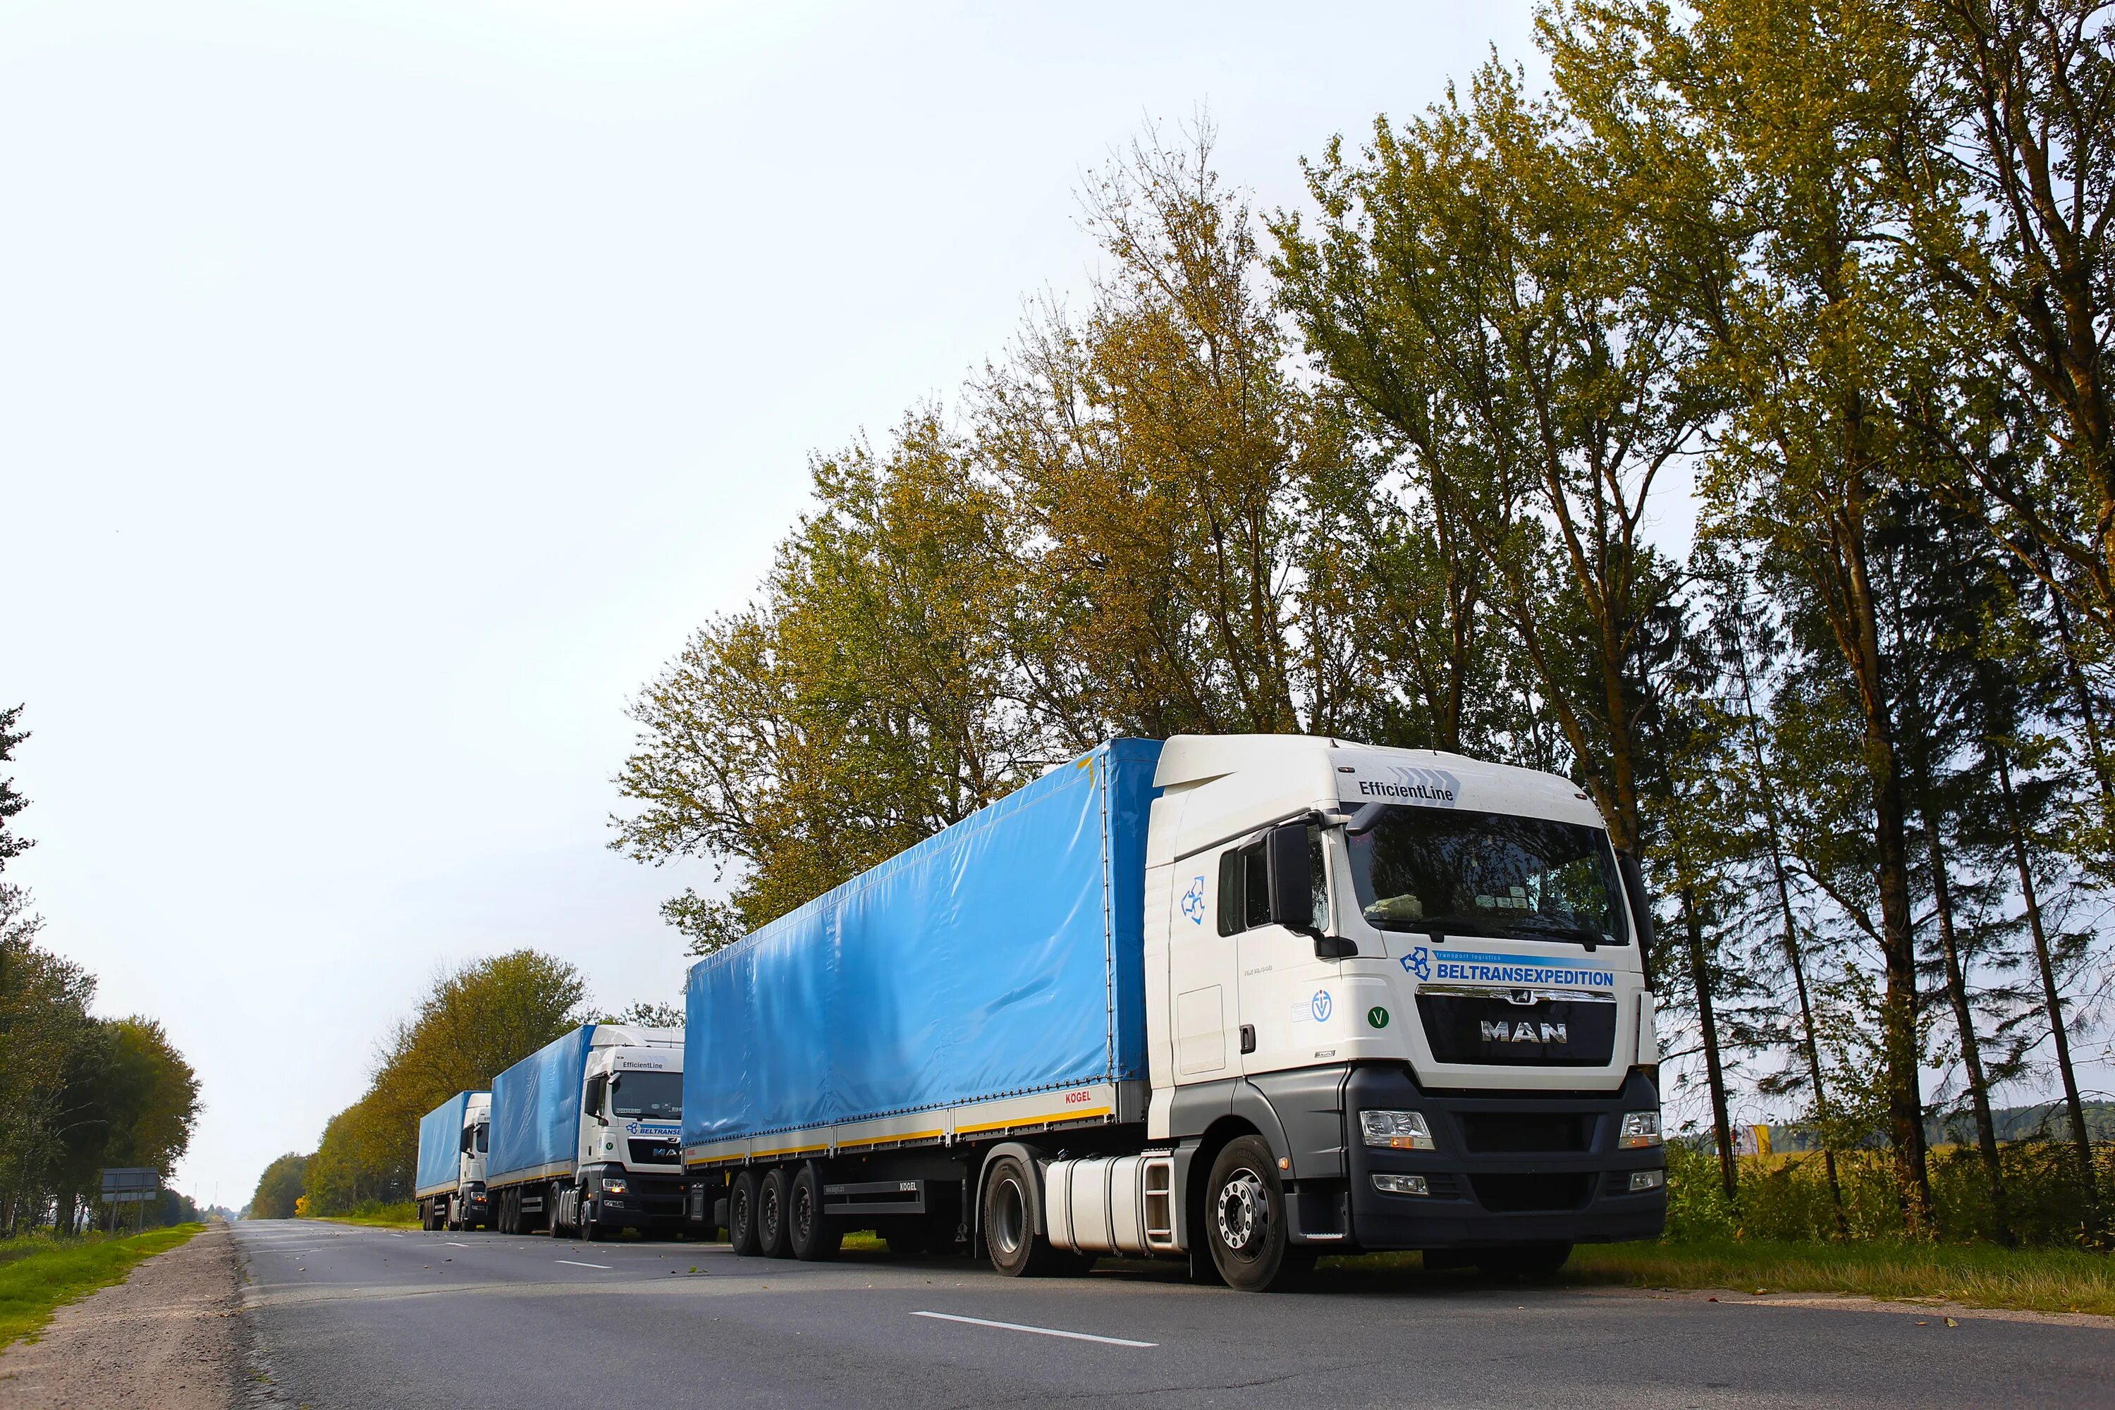
[{"label": "pale overcast sky above the road and trees", "polygon": [[197,1063],[178,1184],[313,1150],[436,966],[677,998],[626,698],[806,457],[1077,292],[1210,106],[1263,205],[1525,6],[0,4],[0,702],[47,945]]}]

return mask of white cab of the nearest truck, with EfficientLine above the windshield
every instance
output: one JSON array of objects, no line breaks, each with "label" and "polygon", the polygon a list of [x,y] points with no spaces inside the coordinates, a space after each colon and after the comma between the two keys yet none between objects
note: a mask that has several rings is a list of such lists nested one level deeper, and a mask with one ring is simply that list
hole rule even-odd
[{"label": "white cab of the nearest truck, with EfficientLine above the windshield", "polygon": [[1155,784],[1146,1137],[1214,1150],[1229,1281],[1275,1273],[1246,1266],[1275,1262],[1273,1203],[1294,1262],[1538,1270],[1660,1232],[1650,911],[1584,793],[1284,736],[1174,738]]}]

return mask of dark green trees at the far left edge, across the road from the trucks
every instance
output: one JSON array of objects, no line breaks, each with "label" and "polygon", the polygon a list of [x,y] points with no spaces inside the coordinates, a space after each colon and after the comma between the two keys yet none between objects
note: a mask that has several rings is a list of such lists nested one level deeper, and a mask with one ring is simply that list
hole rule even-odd
[{"label": "dark green trees at the far left edge, across the road from the trucks", "polygon": [[[0,710],[0,763],[30,738],[21,712]],[[161,1023],[93,1015],[95,977],[38,945],[44,922],[4,877],[34,846],[15,829],[27,805],[0,778],[0,1237],[91,1224],[106,1213],[106,1167],[167,1177],[199,1120],[197,1074]],[[169,1220],[195,1213],[182,1196],[157,1205]]]}]

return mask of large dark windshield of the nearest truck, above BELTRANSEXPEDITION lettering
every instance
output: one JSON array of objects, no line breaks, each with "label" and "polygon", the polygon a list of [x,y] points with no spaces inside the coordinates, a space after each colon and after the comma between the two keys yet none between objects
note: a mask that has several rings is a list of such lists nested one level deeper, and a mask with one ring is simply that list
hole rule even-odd
[{"label": "large dark windshield of the nearest truck, above BELTRANSEXPEDITION lettering", "polygon": [[1392,805],[1345,841],[1360,913],[1379,930],[1629,943],[1616,854],[1597,827]]}]

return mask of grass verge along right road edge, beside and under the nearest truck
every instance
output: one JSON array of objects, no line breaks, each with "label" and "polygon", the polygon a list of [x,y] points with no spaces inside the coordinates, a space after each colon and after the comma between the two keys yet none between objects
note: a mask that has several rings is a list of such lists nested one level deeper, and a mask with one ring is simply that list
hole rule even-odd
[{"label": "grass verge along right road edge, beside and under the nearest truck", "polygon": [[[1421,1268],[1417,1254],[1330,1260],[1345,1273]],[[1432,1273],[1438,1279],[1468,1277]],[[2001,1249],[1944,1243],[1599,1243],[1571,1254],[1557,1277],[1574,1285],[1730,1287],[1743,1294],[1838,1292],[1868,1298],[1944,1298],[1963,1306],[2115,1317],[2115,1258],[2077,1249]]]}]

